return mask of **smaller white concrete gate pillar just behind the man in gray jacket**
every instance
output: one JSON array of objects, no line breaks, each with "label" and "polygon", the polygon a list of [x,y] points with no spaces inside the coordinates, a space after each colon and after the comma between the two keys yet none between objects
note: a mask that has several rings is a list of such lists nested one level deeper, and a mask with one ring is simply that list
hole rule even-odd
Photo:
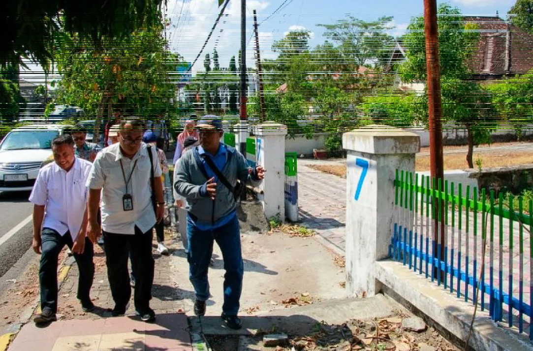
[{"label": "smaller white concrete gate pillar just behind the man in gray jacket", "polygon": [[265,122],[255,127],[257,165],[266,169],[260,196],[266,219],[285,220],[285,135],[287,126]]}]

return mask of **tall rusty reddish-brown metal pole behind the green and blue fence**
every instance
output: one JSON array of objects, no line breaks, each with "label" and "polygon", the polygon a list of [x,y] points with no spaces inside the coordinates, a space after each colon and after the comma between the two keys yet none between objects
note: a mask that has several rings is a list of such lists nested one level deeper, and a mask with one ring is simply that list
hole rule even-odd
[{"label": "tall rusty reddish-brown metal pole behind the green and blue fence", "polygon": [[[437,0],[424,0],[424,32],[426,39],[427,108],[430,129],[430,170],[433,189],[444,184],[444,156],[442,153],[442,107],[440,94],[439,32]],[[443,201],[433,197],[433,256],[445,260],[446,233]],[[440,234],[440,235],[439,235]],[[435,274],[442,273],[434,269]],[[438,274],[443,280],[444,274]]]}]

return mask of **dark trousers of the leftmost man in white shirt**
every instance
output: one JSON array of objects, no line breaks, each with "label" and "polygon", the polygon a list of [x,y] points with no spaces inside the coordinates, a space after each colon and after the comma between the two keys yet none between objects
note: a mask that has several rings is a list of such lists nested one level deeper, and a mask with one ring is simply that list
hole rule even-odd
[{"label": "dark trousers of the leftmost man in white shirt", "polygon": [[[53,313],[58,310],[58,257],[65,245],[72,249],[70,232],[60,235],[53,229],[43,228],[41,233],[41,266],[39,267],[39,284],[41,285],[41,310],[48,307]],[[78,299],[90,299],[89,293],[94,279],[93,243],[85,238],[85,250],[82,254],[74,253],[78,265]]]}]

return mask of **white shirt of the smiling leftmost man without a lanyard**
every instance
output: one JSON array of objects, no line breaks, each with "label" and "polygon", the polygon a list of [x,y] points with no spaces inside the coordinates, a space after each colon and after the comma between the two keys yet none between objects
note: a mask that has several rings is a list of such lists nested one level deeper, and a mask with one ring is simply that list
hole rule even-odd
[{"label": "white shirt of the smiling leftmost man without a lanyard", "polygon": [[78,236],[87,206],[85,182],[91,166],[91,162],[76,157],[68,172],[55,162],[39,170],[29,201],[45,206],[42,228],[53,229],[61,235],[70,230],[73,241]]}]

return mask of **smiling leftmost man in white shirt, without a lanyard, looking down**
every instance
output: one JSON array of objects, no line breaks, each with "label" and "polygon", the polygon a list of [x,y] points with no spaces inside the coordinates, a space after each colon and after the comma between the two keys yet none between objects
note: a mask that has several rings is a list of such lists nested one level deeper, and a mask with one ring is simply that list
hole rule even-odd
[{"label": "smiling leftmost man in white shirt, without a lanyard, looking down", "polygon": [[58,257],[64,245],[74,253],[78,264],[78,299],[82,309],[94,309],[89,296],[94,278],[93,244],[85,236],[87,196],[85,186],[91,163],[75,157],[74,140],[60,135],[52,141],[54,161],[37,175],[29,201],[34,204],[33,247],[41,253],[39,283],[41,314],[35,323],[56,321],[58,308]]}]

